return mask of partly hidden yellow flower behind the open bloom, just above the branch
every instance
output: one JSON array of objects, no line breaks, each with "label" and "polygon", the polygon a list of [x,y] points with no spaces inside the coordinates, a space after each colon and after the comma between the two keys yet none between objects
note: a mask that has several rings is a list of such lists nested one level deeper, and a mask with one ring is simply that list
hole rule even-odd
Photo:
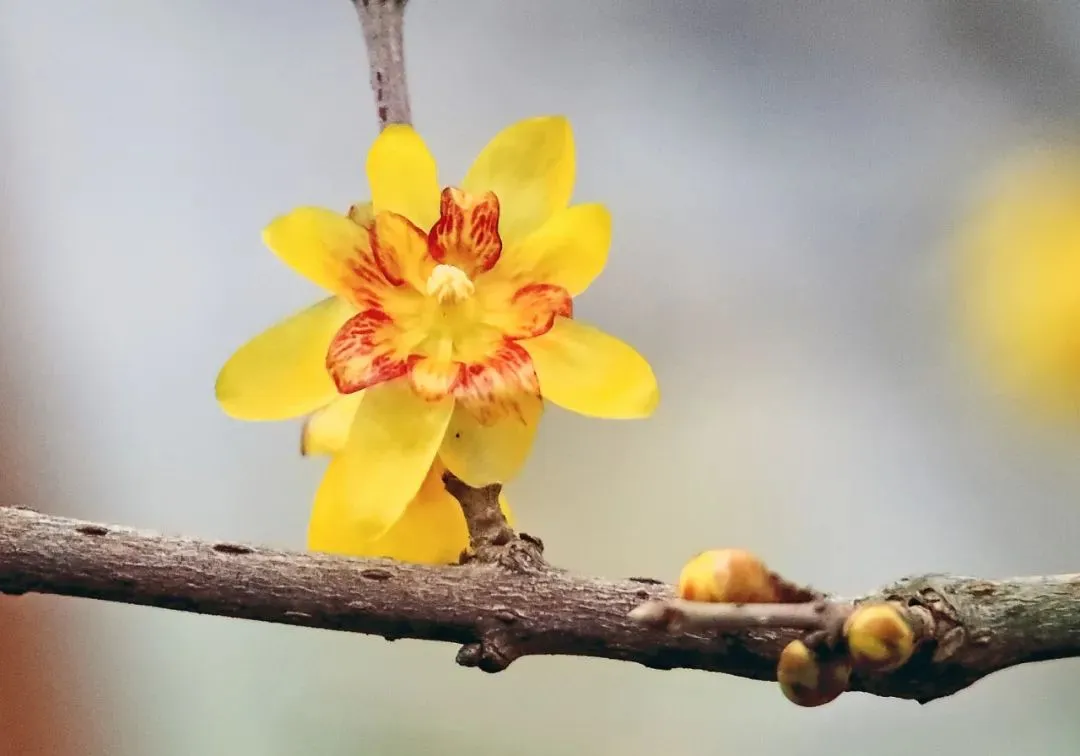
[{"label": "partly hidden yellow flower behind the open bloom, just above the branch", "polygon": [[[353,416],[363,396],[357,392],[330,402],[303,423],[300,450],[305,455],[333,455],[345,447]],[[350,527],[342,499],[318,500],[308,524],[308,548],[349,556],[390,557],[418,564],[454,564],[469,546],[469,530],[458,501],[446,491],[443,472],[435,463],[420,485],[420,490],[405,507],[401,518],[384,534],[372,537]],[[505,497],[499,497],[502,513],[514,524]]]}]

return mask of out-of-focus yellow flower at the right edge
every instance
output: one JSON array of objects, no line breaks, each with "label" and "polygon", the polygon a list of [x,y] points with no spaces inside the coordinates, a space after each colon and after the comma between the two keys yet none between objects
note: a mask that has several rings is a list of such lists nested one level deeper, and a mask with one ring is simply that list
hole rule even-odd
[{"label": "out-of-focus yellow flower at the right edge", "polygon": [[1005,392],[1080,417],[1080,151],[1010,158],[961,228],[963,323]]}]

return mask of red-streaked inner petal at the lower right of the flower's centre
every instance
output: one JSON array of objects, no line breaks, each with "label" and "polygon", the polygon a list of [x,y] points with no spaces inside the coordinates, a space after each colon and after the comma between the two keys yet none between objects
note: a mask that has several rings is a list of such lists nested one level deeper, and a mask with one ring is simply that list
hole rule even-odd
[{"label": "red-streaked inner petal at the lower right of the flower's centre", "polygon": [[[504,340],[483,361],[465,363],[454,397],[481,422],[492,416],[521,415],[518,400],[539,396],[540,381],[532,359],[518,345]],[[524,420],[523,420],[524,421]]]}]

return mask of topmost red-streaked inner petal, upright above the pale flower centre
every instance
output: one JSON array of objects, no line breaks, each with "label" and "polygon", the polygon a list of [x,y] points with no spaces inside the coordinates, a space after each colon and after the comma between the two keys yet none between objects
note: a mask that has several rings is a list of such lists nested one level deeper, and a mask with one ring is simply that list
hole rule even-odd
[{"label": "topmost red-streaked inner petal, upright above the pale flower centre", "polygon": [[469,278],[494,268],[502,254],[499,199],[490,191],[469,194],[453,187],[443,189],[428,248],[436,262],[460,268]]}]

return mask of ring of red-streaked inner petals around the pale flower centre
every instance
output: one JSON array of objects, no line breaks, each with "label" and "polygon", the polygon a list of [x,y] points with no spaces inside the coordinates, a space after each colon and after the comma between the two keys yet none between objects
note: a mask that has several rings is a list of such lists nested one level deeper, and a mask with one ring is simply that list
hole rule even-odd
[{"label": "ring of red-streaked inner petals around the pale flower centre", "polygon": [[[357,219],[368,220],[362,213]],[[390,222],[397,220],[404,222]],[[352,393],[407,375],[421,396],[453,395],[481,422],[508,413],[523,417],[522,396],[539,396],[540,387],[531,357],[515,341],[545,334],[557,316],[572,318],[569,292],[549,283],[511,289],[513,284],[507,281],[504,293],[496,297],[501,299],[498,309],[504,316],[498,318],[498,324],[487,322],[487,327],[495,326],[494,340],[483,359],[475,360],[487,349],[473,352],[473,362],[448,359],[449,353],[410,353],[402,349],[407,346],[403,342],[406,332],[394,321],[404,315],[391,306],[397,300],[389,295],[402,286],[411,292],[436,262],[451,265],[470,279],[494,268],[502,254],[499,200],[490,191],[470,194],[448,187],[442,192],[440,218],[427,234],[405,218],[388,215],[379,221],[379,217],[368,220],[370,246],[356,248],[350,260],[350,298],[363,312],[340,328],[326,354],[326,367],[338,391]],[[410,240],[421,246],[410,246]],[[507,298],[509,291],[513,294]]]}]

